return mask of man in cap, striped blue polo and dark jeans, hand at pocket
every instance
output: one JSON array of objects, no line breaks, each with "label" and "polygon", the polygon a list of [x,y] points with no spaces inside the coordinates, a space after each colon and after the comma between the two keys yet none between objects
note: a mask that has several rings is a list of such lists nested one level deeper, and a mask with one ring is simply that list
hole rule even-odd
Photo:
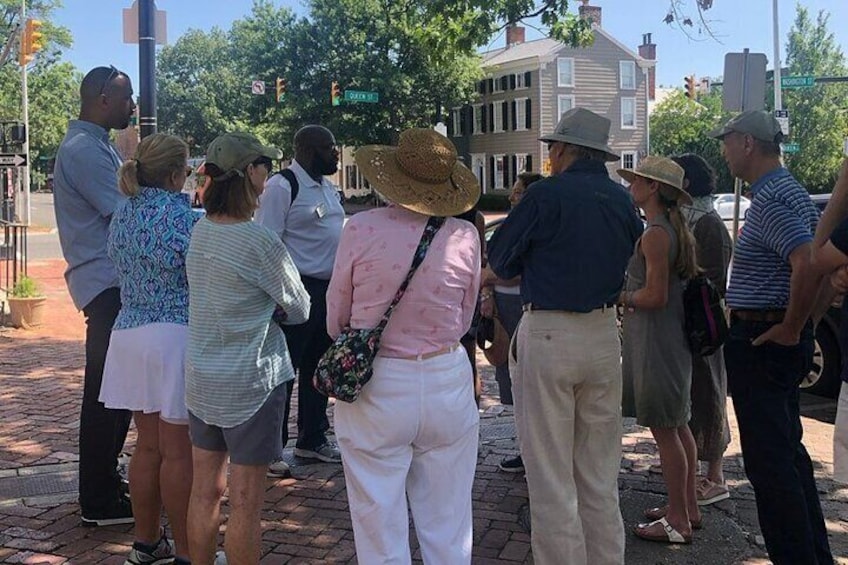
[{"label": "man in cap, striped blue polo and dark jeans, hand at pocket", "polygon": [[783,168],[783,134],[771,114],[744,112],[710,135],[721,140],[731,174],[751,185],[727,291],[724,358],[760,528],[776,565],[830,564],[798,406],[798,384],[812,364],[818,211]]}]

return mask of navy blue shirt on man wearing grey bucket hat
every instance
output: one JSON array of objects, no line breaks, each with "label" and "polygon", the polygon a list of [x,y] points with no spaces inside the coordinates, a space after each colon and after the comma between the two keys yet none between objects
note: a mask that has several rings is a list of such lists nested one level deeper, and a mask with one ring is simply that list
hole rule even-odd
[{"label": "navy blue shirt on man wearing grey bucket hat", "polygon": [[591,312],[615,303],[642,234],[630,195],[599,161],[581,160],[533,183],[488,245],[502,279],[544,310]]}]

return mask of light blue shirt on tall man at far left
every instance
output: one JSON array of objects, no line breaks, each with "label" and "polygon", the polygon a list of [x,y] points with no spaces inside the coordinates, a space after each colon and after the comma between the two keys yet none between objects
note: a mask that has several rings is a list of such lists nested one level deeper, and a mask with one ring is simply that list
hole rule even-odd
[{"label": "light blue shirt on tall man at far left", "polygon": [[121,156],[109,141],[108,130],[71,120],[56,152],[53,208],[68,263],[65,281],[79,310],[104,290],[120,286],[106,255],[112,212],[124,200],[118,190],[120,166]]}]

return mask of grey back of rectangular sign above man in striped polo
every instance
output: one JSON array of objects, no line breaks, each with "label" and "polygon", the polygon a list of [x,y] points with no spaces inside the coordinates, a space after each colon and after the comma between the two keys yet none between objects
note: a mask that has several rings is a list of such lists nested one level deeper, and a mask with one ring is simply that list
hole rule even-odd
[{"label": "grey back of rectangular sign above man in striped polo", "polygon": [[728,53],[724,56],[721,107],[728,112],[762,110],[766,106],[765,53]]}]

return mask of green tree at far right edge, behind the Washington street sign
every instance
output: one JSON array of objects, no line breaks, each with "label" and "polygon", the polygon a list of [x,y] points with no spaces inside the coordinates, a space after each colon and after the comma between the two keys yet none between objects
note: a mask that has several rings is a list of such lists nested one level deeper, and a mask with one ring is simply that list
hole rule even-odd
[{"label": "green tree at far right edge, behind the Washington street sign", "polygon": [[[813,22],[808,10],[797,6],[786,45],[790,75],[848,76],[845,56],[828,30],[829,19],[821,11]],[[791,119],[790,139],[801,146],[800,152],[785,156],[787,168],[810,192],[830,192],[848,134],[848,84],[783,90],[783,105]]]}]

